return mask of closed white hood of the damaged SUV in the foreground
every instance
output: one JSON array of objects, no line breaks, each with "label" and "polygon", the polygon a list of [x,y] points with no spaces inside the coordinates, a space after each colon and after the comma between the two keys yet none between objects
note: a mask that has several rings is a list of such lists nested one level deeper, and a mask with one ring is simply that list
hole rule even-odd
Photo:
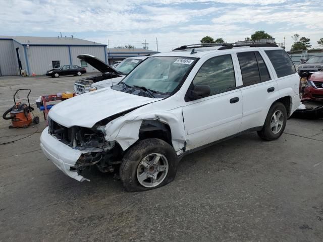
[{"label": "closed white hood of the damaged SUV in the foreground", "polygon": [[53,106],[49,117],[65,126],[91,128],[100,120],[163,98],[149,98],[103,88],[88,92]]}]

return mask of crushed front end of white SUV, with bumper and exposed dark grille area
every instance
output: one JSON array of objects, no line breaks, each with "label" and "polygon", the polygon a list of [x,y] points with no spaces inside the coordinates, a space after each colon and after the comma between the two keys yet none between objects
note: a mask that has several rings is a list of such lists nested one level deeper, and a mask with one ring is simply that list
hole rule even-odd
[{"label": "crushed front end of white SUV, with bumper and exposed dark grille area", "polygon": [[114,172],[121,163],[121,147],[115,141],[106,141],[104,132],[100,124],[92,128],[68,128],[48,118],[40,146],[65,174],[79,181],[88,180],[81,175],[84,169],[96,166],[101,172]]}]

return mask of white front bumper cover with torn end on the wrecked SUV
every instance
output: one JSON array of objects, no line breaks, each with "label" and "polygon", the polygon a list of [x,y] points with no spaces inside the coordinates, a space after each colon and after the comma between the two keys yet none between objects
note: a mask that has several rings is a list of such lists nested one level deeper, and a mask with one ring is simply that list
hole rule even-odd
[{"label": "white front bumper cover with torn end on the wrecked SUV", "polygon": [[75,165],[81,154],[86,151],[72,149],[55,137],[48,134],[48,127],[43,130],[40,136],[40,147],[45,156],[50,159],[66,175],[78,180],[88,180],[79,175],[77,171],[71,171],[70,168]]}]

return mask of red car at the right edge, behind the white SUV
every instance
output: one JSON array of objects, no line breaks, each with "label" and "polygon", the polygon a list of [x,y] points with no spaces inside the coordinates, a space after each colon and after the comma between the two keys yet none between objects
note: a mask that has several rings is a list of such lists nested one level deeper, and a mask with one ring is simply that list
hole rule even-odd
[{"label": "red car at the right edge, behind the white SUV", "polygon": [[308,77],[302,101],[323,101],[323,72],[315,72]]}]

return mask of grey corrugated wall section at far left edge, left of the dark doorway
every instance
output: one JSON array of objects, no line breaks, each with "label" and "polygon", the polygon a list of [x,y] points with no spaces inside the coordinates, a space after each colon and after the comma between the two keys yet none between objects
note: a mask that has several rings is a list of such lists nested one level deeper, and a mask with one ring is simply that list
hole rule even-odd
[{"label": "grey corrugated wall section at far left edge, left of the dark doorway", "polygon": [[0,75],[19,75],[16,50],[13,40],[0,40]]}]

